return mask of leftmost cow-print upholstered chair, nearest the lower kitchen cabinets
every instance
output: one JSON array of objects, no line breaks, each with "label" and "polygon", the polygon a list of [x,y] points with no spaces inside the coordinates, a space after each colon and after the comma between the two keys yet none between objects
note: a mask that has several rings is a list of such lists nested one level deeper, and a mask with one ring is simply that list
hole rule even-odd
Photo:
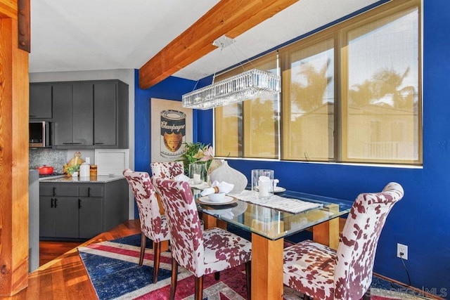
[{"label": "leftmost cow-print upholstered chair, nearest the lower kitchen cabinets", "polygon": [[135,172],[125,169],[123,172],[128,184],[134,193],[134,199],[139,211],[141,221],[141,255],[139,266],[142,266],[143,256],[146,252],[146,237],[153,240],[153,283],[158,282],[160,268],[161,242],[170,239],[167,219],[160,214],[155,189],[146,172]]}]

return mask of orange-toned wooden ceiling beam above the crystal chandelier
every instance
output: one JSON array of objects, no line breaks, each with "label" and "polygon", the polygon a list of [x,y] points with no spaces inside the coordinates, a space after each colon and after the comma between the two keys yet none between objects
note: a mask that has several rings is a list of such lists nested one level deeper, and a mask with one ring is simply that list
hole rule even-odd
[{"label": "orange-toned wooden ceiling beam above the crystal chandelier", "polygon": [[298,0],[221,0],[185,32],[139,69],[139,86],[166,79],[187,65],[214,51],[212,42],[226,35],[232,39]]}]

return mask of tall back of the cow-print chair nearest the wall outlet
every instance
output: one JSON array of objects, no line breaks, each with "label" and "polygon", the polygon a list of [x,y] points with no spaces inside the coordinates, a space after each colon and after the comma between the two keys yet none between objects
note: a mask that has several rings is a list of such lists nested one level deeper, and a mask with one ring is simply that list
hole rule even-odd
[{"label": "tall back of the cow-print chair nearest the wall outlet", "polygon": [[404,195],[398,183],[359,195],[345,222],[335,265],[335,299],[361,299],[372,282],[373,262],[386,217]]}]

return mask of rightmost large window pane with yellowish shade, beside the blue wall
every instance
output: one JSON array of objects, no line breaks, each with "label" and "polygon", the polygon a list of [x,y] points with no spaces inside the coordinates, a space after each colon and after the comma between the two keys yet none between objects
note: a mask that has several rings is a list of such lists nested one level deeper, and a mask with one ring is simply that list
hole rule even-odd
[{"label": "rightmost large window pane with yellowish shade, beside the blue wall", "polygon": [[373,19],[342,32],[342,160],[419,162],[418,8]]}]

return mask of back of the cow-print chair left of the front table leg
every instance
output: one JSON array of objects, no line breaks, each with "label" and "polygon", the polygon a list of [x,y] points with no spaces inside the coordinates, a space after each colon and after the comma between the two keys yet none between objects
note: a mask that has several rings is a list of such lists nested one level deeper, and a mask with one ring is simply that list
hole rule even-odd
[{"label": "back of the cow-print chair left of the front table leg", "polygon": [[203,230],[191,188],[187,182],[153,177],[169,221],[172,258],[195,276],[204,273]]}]

